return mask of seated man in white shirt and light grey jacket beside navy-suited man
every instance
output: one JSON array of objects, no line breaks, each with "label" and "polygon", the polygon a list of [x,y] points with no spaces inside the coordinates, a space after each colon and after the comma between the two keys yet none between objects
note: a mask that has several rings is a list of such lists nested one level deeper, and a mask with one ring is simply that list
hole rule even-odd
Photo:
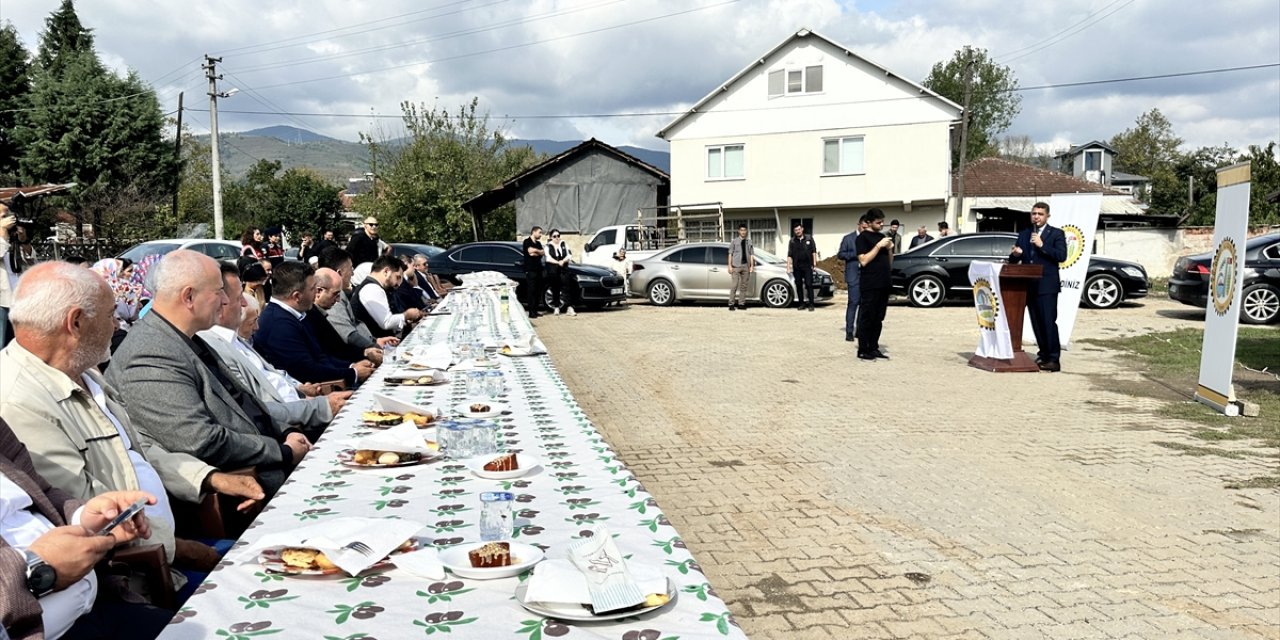
[{"label": "seated man in white shirt and light grey jacket beside navy-suited man", "polygon": [[[218,324],[200,332],[218,360],[230,370],[261,403],[276,422],[298,425],[307,435],[324,431],[333,416],[342,410],[351,392],[334,392],[328,396],[303,398],[297,389],[284,388],[266,375],[261,356],[251,347],[241,347],[236,332],[244,319],[246,297],[241,289],[239,274],[232,265],[221,265],[223,285],[230,305],[218,314]],[[252,353],[252,358],[246,355]]]}]

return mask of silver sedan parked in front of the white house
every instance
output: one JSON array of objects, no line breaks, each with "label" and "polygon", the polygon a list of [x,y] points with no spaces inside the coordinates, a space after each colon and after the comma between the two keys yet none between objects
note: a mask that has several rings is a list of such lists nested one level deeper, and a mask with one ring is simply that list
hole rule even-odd
[{"label": "silver sedan parked in front of the white house", "polygon": [[[649,298],[658,306],[677,301],[728,302],[728,243],[695,242],[666,248],[631,265],[632,297]],[[814,269],[813,285],[818,300],[835,296],[831,274]],[[795,282],[786,260],[755,250],[755,273],[748,297],[768,307],[787,307],[796,300]]]}]

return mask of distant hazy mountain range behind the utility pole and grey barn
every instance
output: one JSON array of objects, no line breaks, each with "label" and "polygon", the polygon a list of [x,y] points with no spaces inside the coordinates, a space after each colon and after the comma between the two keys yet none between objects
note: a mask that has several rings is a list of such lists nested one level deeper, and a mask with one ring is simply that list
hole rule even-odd
[{"label": "distant hazy mountain range behind the utility pole and grey barn", "polygon": [[[207,142],[209,136],[197,136]],[[369,170],[369,151],[365,145],[330,138],[312,131],[288,125],[223,133],[218,137],[219,154],[227,172],[234,178],[248,173],[257,160],[279,160],[284,169],[302,166],[321,178],[346,186],[349,178],[360,178]],[[548,156],[559,154],[580,140],[512,140],[513,146],[527,146]],[[671,170],[671,154],[622,145],[620,150],[662,169]]]}]

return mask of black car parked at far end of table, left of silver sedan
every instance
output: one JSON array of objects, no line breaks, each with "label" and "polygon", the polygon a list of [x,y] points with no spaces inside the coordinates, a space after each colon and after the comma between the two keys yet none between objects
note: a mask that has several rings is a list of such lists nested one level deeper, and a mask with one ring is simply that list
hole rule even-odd
[{"label": "black car parked at far end of table, left of silver sedan", "polygon": [[[524,300],[525,261],[518,242],[468,242],[454,244],[443,253],[428,259],[428,265],[435,275],[460,283],[461,274],[475,271],[498,271],[518,283],[517,292]],[[594,265],[570,264],[570,273],[577,278],[582,306],[603,307],[609,302],[626,300],[622,278],[609,269]]]}]

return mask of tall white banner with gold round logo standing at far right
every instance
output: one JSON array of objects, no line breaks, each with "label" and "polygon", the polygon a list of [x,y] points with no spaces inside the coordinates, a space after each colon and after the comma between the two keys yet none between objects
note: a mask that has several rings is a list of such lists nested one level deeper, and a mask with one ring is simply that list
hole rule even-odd
[{"label": "tall white banner with gold round logo standing at far right", "polygon": [[1213,220],[1213,264],[1208,270],[1204,343],[1196,399],[1228,416],[1239,415],[1231,374],[1240,330],[1244,241],[1249,232],[1249,163],[1219,169]]}]

